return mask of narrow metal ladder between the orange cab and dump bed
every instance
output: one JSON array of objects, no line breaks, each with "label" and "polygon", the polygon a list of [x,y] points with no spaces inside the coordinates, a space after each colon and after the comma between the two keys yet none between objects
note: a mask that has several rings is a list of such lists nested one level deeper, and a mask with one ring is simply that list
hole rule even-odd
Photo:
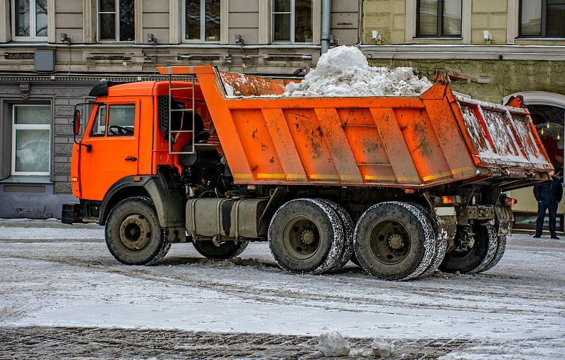
[{"label": "narrow metal ladder between the orange cab and dump bed", "polygon": [[[175,76],[176,77],[176,76]],[[169,154],[194,154],[195,150],[194,150],[194,145],[195,145],[195,138],[196,138],[196,132],[195,132],[195,126],[196,124],[194,124],[195,121],[195,113],[196,113],[196,107],[194,106],[194,81],[196,80],[196,76],[194,76],[194,74],[191,75],[186,75],[186,76],[182,76],[183,78],[186,77],[186,80],[182,80],[183,86],[181,88],[173,88],[173,80],[172,80],[172,75],[169,75],[169,114],[168,114],[168,143],[169,143]],[[190,81],[189,81],[190,79]],[[184,84],[188,84],[190,83],[190,86],[185,86]],[[190,102],[190,106],[182,109],[173,109],[173,103],[174,103],[174,98],[172,97],[172,93],[174,90],[191,90],[191,102]],[[173,118],[173,114],[175,113],[179,113],[181,114],[181,119],[184,119],[184,114],[186,114],[187,112],[190,112],[192,114],[191,116],[191,121],[192,121],[192,126],[190,130],[183,130],[182,126],[179,126],[179,129],[177,130],[173,130],[172,129],[172,118]],[[182,124],[182,122],[181,122]],[[181,133],[190,133],[191,134],[191,148],[190,151],[173,151],[172,148],[172,144],[173,144],[173,137],[174,135],[180,136]],[[174,139],[175,141],[177,140],[176,138]]]}]

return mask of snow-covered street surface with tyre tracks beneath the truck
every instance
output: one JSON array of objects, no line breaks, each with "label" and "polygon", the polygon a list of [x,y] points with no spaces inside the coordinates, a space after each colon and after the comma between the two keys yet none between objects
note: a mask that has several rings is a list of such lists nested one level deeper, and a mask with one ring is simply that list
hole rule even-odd
[{"label": "snow-covered street surface with tyre tracks beneath the truck", "polygon": [[103,236],[95,224],[0,220],[0,326],[476,339],[502,346],[449,359],[565,359],[565,240],[513,235],[483,274],[386,282],[352,263],[291,275],[264,243],[221,262],[174,244],[161,263],[129,267]]}]

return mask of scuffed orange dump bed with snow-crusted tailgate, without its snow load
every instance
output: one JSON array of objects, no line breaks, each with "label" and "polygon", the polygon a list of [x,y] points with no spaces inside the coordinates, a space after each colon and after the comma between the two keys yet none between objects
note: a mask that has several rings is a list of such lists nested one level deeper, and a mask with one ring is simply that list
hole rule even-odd
[{"label": "scuffed orange dump bed with snow-crusted tailgate, without its snow load", "polygon": [[159,71],[196,75],[239,184],[426,188],[513,179],[499,182],[508,190],[552,169],[527,109],[454,95],[446,83],[418,97],[281,97],[284,80],[212,66]]}]

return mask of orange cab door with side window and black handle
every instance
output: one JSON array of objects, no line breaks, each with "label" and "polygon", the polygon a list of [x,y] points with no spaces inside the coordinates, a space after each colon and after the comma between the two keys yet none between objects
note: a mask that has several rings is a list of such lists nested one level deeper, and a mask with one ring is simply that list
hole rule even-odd
[{"label": "orange cab door with side window and black handle", "polygon": [[81,143],[81,198],[102,200],[110,186],[138,174],[139,114],[136,100],[97,103]]}]

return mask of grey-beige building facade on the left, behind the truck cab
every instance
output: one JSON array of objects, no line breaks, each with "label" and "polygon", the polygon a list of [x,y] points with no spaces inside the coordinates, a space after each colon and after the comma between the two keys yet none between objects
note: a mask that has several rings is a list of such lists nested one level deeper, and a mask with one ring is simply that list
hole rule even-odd
[{"label": "grey-beige building facade on the left, behind the truck cab", "polygon": [[[102,78],[144,80],[156,66],[202,64],[300,76],[316,65],[323,39],[359,44],[360,2],[325,4],[0,0],[0,217],[60,217],[61,204],[76,201],[73,110],[93,100]],[[331,37],[322,35],[323,14]]]}]

